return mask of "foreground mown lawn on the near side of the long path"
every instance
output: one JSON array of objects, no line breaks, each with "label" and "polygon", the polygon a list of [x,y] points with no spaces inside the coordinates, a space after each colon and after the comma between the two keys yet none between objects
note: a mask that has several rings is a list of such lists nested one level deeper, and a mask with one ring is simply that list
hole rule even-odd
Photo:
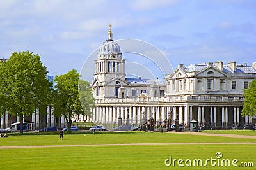
[{"label": "foreground mown lawn on the near side of the long path", "polygon": [[[156,145],[19,148],[0,150],[0,169],[253,169],[253,167],[165,166],[172,159],[222,159],[254,162],[256,145]],[[184,164],[184,162],[183,162]],[[254,167],[255,168],[255,167]]]}]

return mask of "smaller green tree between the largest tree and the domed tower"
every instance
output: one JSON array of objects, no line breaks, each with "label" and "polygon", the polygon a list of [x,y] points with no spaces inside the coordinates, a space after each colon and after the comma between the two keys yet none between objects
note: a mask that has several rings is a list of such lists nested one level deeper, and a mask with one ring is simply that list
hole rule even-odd
[{"label": "smaller green tree between the largest tree and the domed tower", "polygon": [[[74,115],[90,115],[90,106],[94,104],[90,84],[79,80],[76,69],[54,78],[54,110],[56,116],[64,116],[68,126],[68,133]],[[82,101],[79,100],[79,94]]]}]

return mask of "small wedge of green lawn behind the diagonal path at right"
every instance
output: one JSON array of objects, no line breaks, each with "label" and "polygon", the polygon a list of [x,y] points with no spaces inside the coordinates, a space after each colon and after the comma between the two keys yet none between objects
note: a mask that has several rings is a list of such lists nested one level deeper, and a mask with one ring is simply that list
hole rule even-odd
[{"label": "small wedge of green lawn behind the diagonal path at right", "polygon": [[238,134],[238,135],[250,135],[256,136],[256,131],[252,130],[205,130],[202,132],[214,133],[214,134]]}]

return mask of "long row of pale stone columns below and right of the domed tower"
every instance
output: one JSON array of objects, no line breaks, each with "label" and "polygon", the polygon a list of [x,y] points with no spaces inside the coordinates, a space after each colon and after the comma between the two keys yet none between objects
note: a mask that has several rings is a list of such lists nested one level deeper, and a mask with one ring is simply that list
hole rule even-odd
[{"label": "long row of pale stone columns below and right of the domed tower", "polygon": [[118,122],[118,118],[123,121],[149,120],[153,117],[157,122],[163,122],[167,118],[171,118],[173,123],[179,118],[180,124],[187,124],[191,120],[192,106],[101,106],[92,110],[93,122]]}]

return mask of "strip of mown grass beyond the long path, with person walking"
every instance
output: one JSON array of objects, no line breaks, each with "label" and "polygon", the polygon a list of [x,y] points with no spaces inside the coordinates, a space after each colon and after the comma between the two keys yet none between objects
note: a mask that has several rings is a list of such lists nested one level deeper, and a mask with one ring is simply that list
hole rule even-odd
[{"label": "strip of mown grass beyond the long path, with person walking", "polygon": [[190,143],[190,142],[256,142],[256,139],[227,138],[217,136],[189,135],[180,133],[130,132],[130,133],[99,133],[99,134],[65,134],[64,140],[59,135],[22,135],[0,138],[1,146],[30,145],[88,145],[102,143]]}]

